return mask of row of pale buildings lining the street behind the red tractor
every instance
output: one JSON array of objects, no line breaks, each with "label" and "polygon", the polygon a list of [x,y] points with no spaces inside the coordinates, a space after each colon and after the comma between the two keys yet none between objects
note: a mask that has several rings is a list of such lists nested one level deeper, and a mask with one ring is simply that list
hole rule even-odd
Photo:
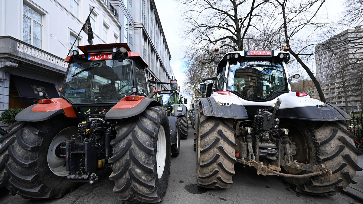
[{"label": "row of pale buildings lining the street behind the red tractor", "polygon": [[[58,97],[74,43],[128,43],[148,63],[147,75],[170,81],[170,51],[154,0],[0,0],[0,112],[37,103],[38,91]],[[156,88],[168,88],[166,85]],[[1,124],[0,124],[1,125]],[[2,126],[2,125],[1,125]]]}]

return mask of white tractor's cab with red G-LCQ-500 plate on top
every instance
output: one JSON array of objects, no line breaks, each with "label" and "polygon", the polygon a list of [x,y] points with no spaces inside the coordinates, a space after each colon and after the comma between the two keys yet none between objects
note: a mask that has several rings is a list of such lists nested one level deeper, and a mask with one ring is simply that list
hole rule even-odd
[{"label": "white tractor's cab with red G-LCQ-500 plate on top", "polygon": [[217,68],[216,91],[229,91],[245,100],[265,101],[289,92],[286,51],[238,51],[224,55]]}]

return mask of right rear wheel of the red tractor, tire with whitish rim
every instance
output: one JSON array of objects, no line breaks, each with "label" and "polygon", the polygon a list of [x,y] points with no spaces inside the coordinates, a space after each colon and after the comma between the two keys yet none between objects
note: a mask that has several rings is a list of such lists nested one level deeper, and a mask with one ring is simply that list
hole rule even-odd
[{"label": "right rear wheel of the red tractor, tire with whitish rim", "polygon": [[162,107],[148,107],[133,120],[116,126],[111,141],[113,192],[131,203],[163,200],[170,174],[170,128]]}]

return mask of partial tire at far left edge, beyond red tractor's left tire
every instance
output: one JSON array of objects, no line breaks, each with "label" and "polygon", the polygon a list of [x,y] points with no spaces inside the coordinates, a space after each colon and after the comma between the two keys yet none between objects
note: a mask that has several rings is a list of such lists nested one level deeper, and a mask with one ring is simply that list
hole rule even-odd
[{"label": "partial tire at far left edge, beyond red tractor's left tire", "polygon": [[12,125],[13,131],[0,138],[0,188],[5,187],[9,174],[5,169],[5,163],[9,161],[8,148],[16,140],[16,132],[26,125],[25,122],[17,122]]}]

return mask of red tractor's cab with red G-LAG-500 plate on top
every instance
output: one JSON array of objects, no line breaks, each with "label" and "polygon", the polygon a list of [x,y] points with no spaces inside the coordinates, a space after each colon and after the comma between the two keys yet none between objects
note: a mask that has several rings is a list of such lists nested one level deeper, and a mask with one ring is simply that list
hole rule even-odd
[{"label": "red tractor's cab with red G-LAG-500 plate on top", "polygon": [[146,62],[126,43],[78,47],[66,58],[69,68],[61,97],[69,103],[115,104],[125,96],[150,97]]}]

